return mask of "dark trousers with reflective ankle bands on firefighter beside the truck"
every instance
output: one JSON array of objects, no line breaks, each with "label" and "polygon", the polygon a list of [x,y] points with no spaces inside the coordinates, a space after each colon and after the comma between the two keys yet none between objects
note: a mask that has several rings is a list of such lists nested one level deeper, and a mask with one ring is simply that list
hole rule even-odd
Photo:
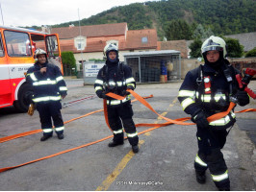
[{"label": "dark trousers with reflective ankle bands on firefighter beside the truck", "polygon": [[55,132],[64,132],[64,120],[61,113],[62,105],[59,101],[54,102],[40,102],[37,104],[39,112],[41,129],[43,135],[52,135],[52,120],[55,127]]}]

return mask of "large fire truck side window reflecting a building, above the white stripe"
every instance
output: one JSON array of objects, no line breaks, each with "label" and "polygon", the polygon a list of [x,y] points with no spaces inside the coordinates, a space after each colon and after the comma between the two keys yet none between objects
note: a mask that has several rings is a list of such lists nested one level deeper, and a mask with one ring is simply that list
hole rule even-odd
[{"label": "large fire truck side window reflecting a building, above the white stripe", "polygon": [[29,35],[22,32],[5,31],[7,53],[10,57],[32,56]]}]

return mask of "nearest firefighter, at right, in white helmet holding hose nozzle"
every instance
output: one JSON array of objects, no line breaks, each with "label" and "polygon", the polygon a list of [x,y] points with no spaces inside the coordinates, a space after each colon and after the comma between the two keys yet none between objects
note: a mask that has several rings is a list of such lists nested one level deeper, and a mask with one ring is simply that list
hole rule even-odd
[{"label": "nearest firefighter, at right, in white helmet holding hose nozzle", "polygon": [[211,123],[207,117],[225,111],[230,101],[245,106],[249,103],[249,96],[238,88],[235,75],[239,72],[225,59],[226,43],[222,38],[207,38],[201,46],[201,53],[205,64],[187,73],[178,99],[183,110],[192,115],[197,127],[198,153],[194,160],[197,182],[205,183],[205,172],[209,168],[218,189],[230,190],[228,170],[220,149],[236,122],[235,113],[232,110]]}]

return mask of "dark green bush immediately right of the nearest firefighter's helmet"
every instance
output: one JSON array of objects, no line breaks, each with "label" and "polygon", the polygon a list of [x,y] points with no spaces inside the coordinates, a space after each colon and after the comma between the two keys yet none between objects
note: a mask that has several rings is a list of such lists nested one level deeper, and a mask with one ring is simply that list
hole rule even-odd
[{"label": "dark green bush immediately right of the nearest firefighter's helmet", "polygon": [[227,45],[227,55],[230,58],[243,57],[243,45],[240,44],[238,39],[223,37]]}]

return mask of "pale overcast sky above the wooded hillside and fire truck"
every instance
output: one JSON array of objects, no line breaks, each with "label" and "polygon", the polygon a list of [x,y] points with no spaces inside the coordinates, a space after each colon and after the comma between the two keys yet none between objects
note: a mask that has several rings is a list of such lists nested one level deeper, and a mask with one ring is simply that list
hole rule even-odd
[{"label": "pale overcast sky above the wooded hillside and fire truck", "polygon": [[0,0],[0,25],[41,26],[89,18],[116,6],[148,0]]}]

